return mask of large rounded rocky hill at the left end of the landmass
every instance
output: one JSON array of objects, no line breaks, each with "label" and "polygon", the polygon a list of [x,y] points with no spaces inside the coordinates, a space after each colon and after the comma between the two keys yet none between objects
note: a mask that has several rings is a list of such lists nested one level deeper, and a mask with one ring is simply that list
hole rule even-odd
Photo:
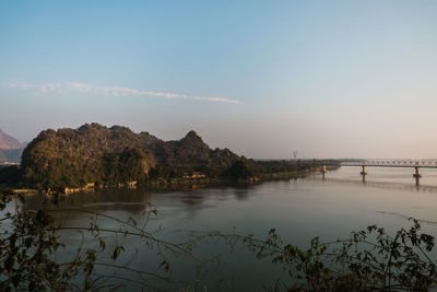
[{"label": "large rounded rocky hill at the left end of the landmass", "polygon": [[43,131],[23,152],[24,184],[62,189],[143,180],[154,160],[146,150],[138,148],[137,138],[125,128],[108,129],[96,124],[78,130]]}]

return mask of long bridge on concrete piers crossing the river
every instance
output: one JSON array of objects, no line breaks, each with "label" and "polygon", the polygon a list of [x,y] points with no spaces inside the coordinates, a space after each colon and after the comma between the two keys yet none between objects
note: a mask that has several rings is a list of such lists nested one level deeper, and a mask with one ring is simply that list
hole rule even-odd
[{"label": "long bridge on concrete piers crossing the river", "polygon": [[[340,166],[359,166],[362,167],[361,174],[363,175],[363,182],[366,180],[367,170],[366,167],[412,167],[415,170],[413,176],[416,178],[416,185],[418,185],[422,174],[420,172],[423,168],[437,168],[437,160],[359,160],[359,161],[346,161],[341,162]],[[322,168],[323,177],[327,173],[327,165]]]}]

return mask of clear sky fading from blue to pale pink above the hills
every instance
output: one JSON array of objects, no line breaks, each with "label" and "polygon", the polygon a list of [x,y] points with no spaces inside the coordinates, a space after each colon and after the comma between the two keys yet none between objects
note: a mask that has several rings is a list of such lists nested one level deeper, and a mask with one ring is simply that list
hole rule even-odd
[{"label": "clear sky fading from blue to pale pink above the hills", "polygon": [[0,129],[193,129],[255,159],[437,157],[437,1],[0,2]]}]

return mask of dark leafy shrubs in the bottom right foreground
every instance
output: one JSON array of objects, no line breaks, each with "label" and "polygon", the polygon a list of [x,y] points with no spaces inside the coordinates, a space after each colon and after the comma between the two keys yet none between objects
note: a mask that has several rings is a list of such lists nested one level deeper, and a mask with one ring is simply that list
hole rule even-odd
[{"label": "dark leafy shrubs in the bottom right foreground", "polygon": [[377,225],[352,232],[349,238],[308,248],[284,242],[275,229],[265,240],[253,235],[200,233],[198,241],[223,240],[235,249],[244,243],[259,259],[270,259],[290,277],[269,291],[428,291],[437,289],[435,237],[421,232],[417,220],[391,233]]}]

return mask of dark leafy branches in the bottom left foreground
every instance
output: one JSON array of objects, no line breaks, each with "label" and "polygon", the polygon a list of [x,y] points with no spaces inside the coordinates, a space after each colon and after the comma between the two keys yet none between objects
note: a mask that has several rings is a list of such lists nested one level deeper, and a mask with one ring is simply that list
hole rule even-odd
[{"label": "dark leafy branches in the bottom left foreground", "polygon": [[[152,206],[149,206],[143,214],[145,223],[140,224],[133,219],[123,221],[96,212],[61,210],[56,203],[57,198],[54,201],[45,201],[39,210],[15,208],[14,211],[10,211],[7,207],[12,200],[19,205],[24,203],[24,197],[14,195],[10,189],[0,189],[0,291],[119,291],[122,285],[107,283],[114,275],[103,277],[97,271],[98,267],[132,273],[132,278],[117,278],[120,282],[133,281],[144,288],[154,288],[154,279],[169,281],[166,261],[169,254],[201,265],[191,255],[192,246],[189,243],[169,243],[157,240],[147,232],[145,223],[151,215],[156,215]],[[64,226],[52,215],[64,211],[83,212],[88,215],[90,226]],[[97,225],[99,218],[111,220],[116,227],[101,230]],[[75,253],[68,255],[68,259],[59,259],[58,252],[66,247],[60,237],[63,230],[90,234],[92,241],[97,244],[97,249],[79,245]],[[117,258],[125,252],[125,247],[108,240],[105,236],[107,234],[141,238],[143,247],[155,250],[162,260],[161,266],[149,267],[150,270],[134,270],[118,264]]]}]

